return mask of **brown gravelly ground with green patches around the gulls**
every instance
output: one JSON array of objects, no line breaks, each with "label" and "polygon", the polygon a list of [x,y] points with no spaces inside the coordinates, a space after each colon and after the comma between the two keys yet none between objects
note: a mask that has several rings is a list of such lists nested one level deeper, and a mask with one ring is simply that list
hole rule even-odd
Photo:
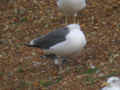
[{"label": "brown gravelly ground with green patches around the gulls", "polygon": [[59,74],[52,60],[40,59],[40,49],[24,46],[65,26],[55,1],[1,0],[0,90],[99,90],[107,77],[120,76],[120,1],[87,0],[80,13],[87,47]]}]

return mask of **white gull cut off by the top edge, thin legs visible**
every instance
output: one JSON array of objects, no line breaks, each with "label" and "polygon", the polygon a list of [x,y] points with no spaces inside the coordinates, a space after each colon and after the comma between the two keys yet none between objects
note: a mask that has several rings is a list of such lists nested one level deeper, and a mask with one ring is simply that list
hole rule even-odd
[{"label": "white gull cut off by the top edge, thin legs visible", "polygon": [[76,22],[77,13],[86,7],[86,0],[57,0],[57,6],[66,16],[74,15]]}]

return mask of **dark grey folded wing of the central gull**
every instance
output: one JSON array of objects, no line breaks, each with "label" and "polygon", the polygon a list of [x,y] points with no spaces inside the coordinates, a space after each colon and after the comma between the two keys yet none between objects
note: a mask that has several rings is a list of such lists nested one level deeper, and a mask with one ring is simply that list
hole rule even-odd
[{"label": "dark grey folded wing of the central gull", "polygon": [[47,35],[34,39],[34,47],[49,49],[51,46],[64,41],[68,33],[69,30],[67,27],[57,29]]}]

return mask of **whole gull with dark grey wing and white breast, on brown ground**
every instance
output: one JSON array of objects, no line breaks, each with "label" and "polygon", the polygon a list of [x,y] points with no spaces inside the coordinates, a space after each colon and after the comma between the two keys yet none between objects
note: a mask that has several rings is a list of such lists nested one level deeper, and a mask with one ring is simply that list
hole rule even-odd
[{"label": "whole gull with dark grey wing and white breast, on brown ground", "polygon": [[[69,24],[47,35],[35,38],[25,45],[42,49],[45,54],[61,57],[76,57],[86,45],[86,37],[79,24]],[[61,60],[55,59],[55,64]]]}]

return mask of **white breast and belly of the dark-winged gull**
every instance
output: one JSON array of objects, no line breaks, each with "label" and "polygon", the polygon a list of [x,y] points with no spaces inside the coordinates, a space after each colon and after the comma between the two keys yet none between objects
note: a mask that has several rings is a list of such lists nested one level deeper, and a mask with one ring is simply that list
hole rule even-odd
[{"label": "white breast and belly of the dark-winged gull", "polygon": [[59,56],[70,56],[79,54],[86,45],[86,38],[80,30],[71,30],[67,35],[66,40],[52,46],[49,49],[50,53],[55,53]]}]

